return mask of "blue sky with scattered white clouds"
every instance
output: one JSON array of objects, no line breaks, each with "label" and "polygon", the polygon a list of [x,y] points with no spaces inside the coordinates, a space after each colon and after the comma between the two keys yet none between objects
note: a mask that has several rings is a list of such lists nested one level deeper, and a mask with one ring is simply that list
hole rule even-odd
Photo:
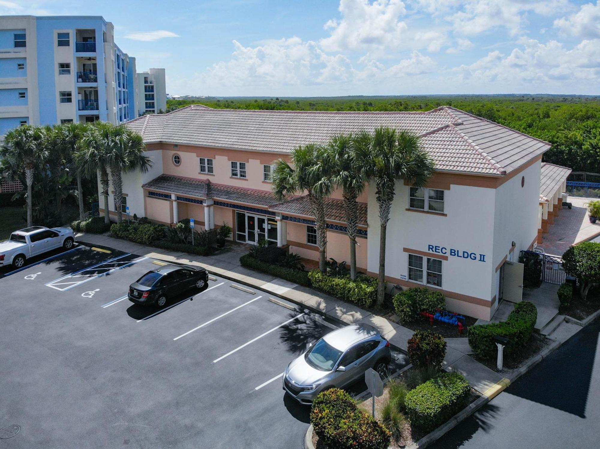
[{"label": "blue sky with scattered white clouds", "polygon": [[101,15],[167,93],[600,94],[600,0],[0,0]]}]

